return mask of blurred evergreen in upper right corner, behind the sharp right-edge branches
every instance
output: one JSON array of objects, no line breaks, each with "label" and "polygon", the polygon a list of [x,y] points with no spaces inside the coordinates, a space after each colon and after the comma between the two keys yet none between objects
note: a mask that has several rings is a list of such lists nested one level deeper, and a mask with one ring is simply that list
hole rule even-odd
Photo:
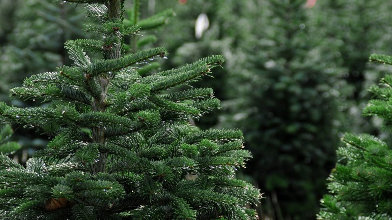
[{"label": "blurred evergreen in upper right corner, behind the sharp right-edge branches", "polygon": [[[367,88],[382,75],[382,67],[368,62],[372,51],[389,52],[391,43],[389,1],[344,0],[318,1],[313,11],[317,19],[317,38],[325,38],[324,53],[333,54],[331,62],[342,67],[349,89],[342,105],[346,131],[386,137],[375,117],[361,117],[371,94]],[[328,17],[328,19],[326,19]],[[332,52],[332,53],[331,53]]]}]

